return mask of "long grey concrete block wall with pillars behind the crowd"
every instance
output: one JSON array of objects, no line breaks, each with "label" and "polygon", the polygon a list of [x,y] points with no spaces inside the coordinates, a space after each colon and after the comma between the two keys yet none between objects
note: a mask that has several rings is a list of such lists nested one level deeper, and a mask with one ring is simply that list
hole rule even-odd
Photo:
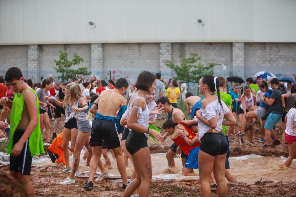
[{"label": "long grey concrete block wall with pillars behind the crowd", "polygon": [[[135,82],[140,71],[161,71],[163,79],[175,75],[165,64],[180,64],[190,53],[198,53],[201,63],[228,64],[234,75],[247,78],[258,71],[274,74],[295,74],[295,43],[122,43],[122,44],[60,44],[60,45],[2,45],[0,46],[0,75],[12,67],[22,69],[25,78],[48,77],[54,71],[54,59],[59,51],[67,51],[69,59],[76,52],[86,66],[102,79],[119,77]],[[73,69],[78,68],[74,66]],[[221,66],[217,70],[221,70]],[[33,73],[34,71],[34,73]],[[43,71],[48,71],[46,74]],[[40,72],[38,74],[37,72]]]}]

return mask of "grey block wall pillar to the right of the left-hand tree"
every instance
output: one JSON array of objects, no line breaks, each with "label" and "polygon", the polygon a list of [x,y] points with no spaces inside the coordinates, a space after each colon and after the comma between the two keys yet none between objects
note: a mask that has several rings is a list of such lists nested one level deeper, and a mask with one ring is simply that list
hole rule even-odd
[{"label": "grey block wall pillar to the right of the left-hand tree", "polygon": [[103,67],[103,44],[91,44],[91,75],[102,79]]}]

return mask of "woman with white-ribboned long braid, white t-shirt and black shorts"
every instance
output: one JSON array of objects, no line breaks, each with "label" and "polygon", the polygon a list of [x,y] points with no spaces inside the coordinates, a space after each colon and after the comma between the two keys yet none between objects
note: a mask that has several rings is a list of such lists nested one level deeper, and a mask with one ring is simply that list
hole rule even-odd
[{"label": "woman with white-ribboned long braid, white t-shirt and black shorts", "polygon": [[[202,196],[211,196],[210,178],[213,171],[217,181],[218,196],[227,196],[228,189],[224,178],[225,158],[228,151],[227,140],[222,131],[222,124],[231,126],[236,120],[224,102],[221,102],[219,80],[213,75],[200,79],[199,93],[205,96],[202,109],[196,117],[199,126],[200,152],[198,170]],[[217,91],[217,96],[215,96]],[[223,120],[223,117],[226,120]]]}]

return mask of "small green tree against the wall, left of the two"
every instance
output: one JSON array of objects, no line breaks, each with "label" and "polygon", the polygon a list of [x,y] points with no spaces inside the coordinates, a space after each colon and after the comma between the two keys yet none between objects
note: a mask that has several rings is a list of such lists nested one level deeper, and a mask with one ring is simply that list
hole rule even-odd
[{"label": "small green tree against the wall, left of the two", "polygon": [[56,67],[54,69],[58,73],[62,73],[62,76],[58,76],[58,78],[62,78],[62,81],[71,79],[75,74],[81,75],[89,75],[91,72],[88,71],[87,67],[81,67],[77,70],[71,69],[73,65],[79,65],[83,62],[83,58],[74,53],[73,59],[70,61],[68,60],[67,52],[59,51],[59,60],[55,60]]}]

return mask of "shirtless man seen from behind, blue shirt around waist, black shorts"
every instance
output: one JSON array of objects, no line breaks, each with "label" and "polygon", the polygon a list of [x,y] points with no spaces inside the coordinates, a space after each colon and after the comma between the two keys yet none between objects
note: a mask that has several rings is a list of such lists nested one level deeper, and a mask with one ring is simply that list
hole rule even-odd
[{"label": "shirtless man seen from behind, blue shirt around waist, black shorts", "polygon": [[[103,140],[106,142],[109,150],[112,149],[115,154],[118,171],[123,180],[122,188],[128,185],[126,175],[126,165],[123,159],[121,140],[118,136],[119,121],[123,113],[126,111],[126,99],[123,97],[128,89],[128,82],[124,78],[120,78],[115,83],[115,88],[103,91],[95,100],[95,105],[91,106],[91,113],[96,114],[94,118],[91,139],[89,145],[92,147],[93,156],[89,164],[89,180],[84,189],[90,191],[93,189],[94,175],[98,166],[98,161],[102,154]],[[120,108],[117,118],[115,114]]]}]

